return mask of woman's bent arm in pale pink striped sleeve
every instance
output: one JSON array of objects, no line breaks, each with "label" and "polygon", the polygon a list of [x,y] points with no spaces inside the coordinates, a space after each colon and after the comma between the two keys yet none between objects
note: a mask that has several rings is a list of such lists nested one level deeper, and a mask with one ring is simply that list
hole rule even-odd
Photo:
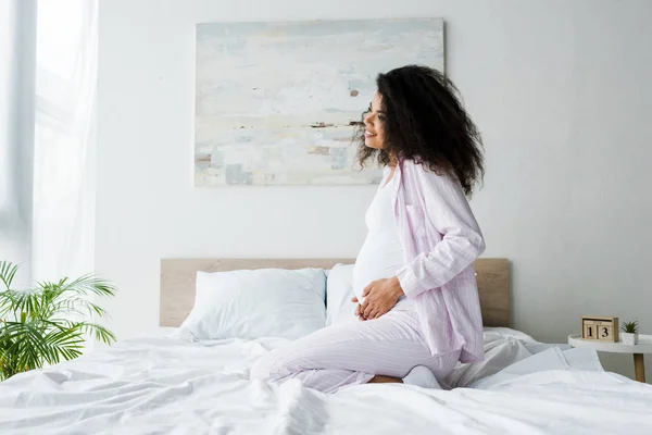
[{"label": "woman's bent arm in pale pink striped sleeve", "polygon": [[403,293],[412,298],[441,287],[485,251],[485,240],[462,186],[448,175],[418,169],[426,219],[443,236],[430,252],[418,254],[397,273]]}]

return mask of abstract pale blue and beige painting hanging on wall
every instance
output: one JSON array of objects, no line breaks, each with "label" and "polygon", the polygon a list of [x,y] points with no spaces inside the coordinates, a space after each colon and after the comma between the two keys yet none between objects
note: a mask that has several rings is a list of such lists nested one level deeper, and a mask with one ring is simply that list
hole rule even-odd
[{"label": "abstract pale blue and beige painting hanging on wall", "polygon": [[377,184],[354,126],[378,73],[443,71],[443,21],[198,24],[196,50],[196,186]]}]

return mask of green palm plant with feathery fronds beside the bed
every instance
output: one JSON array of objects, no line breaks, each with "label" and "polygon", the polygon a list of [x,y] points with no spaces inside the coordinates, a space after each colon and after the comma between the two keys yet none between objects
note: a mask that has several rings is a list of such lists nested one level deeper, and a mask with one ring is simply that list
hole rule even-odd
[{"label": "green palm plant with feathery fronds beside the bed", "polygon": [[113,296],[115,287],[109,282],[88,274],[16,290],[12,282],[17,270],[11,262],[0,262],[0,381],[79,357],[86,335],[115,341],[113,333],[88,321],[106,316],[88,299]]}]

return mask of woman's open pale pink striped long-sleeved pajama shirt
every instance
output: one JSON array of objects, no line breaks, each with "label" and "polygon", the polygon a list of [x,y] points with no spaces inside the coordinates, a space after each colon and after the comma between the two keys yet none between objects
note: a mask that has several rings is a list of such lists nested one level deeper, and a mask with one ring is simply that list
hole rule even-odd
[{"label": "woman's open pale pink striped long-sleeved pajama shirt", "polygon": [[414,301],[430,353],[461,350],[460,361],[480,361],[482,315],[473,262],[485,240],[462,186],[412,160],[400,161],[394,176],[405,254],[397,276]]}]

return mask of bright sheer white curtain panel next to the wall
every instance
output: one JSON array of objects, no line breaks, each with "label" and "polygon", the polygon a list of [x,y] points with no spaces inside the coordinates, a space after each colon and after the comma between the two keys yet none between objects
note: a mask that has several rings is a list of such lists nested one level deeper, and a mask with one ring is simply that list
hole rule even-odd
[{"label": "bright sheer white curtain panel next to the wall", "polygon": [[97,0],[39,0],[33,274],[93,270]]}]

